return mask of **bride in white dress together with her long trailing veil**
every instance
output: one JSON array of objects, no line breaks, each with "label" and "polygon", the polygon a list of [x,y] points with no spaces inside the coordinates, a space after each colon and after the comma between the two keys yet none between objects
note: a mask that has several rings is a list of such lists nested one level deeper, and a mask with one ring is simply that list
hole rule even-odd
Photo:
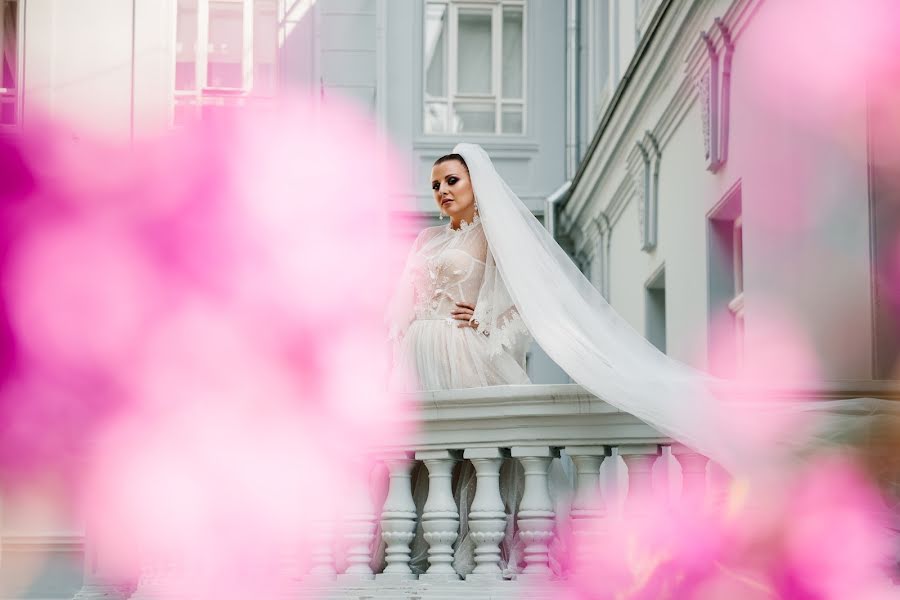
[{"label": "bride in white dress together with her long trailing veil", "polygon": [[724,426],[713,378],[661,353],[620,317],[481,146],[457,144],[431,175],[450,222],[416,238],[391,302],[394,389],[528,383],[533,336],[574,381],[664,435],[729,470],[758,458]]}]

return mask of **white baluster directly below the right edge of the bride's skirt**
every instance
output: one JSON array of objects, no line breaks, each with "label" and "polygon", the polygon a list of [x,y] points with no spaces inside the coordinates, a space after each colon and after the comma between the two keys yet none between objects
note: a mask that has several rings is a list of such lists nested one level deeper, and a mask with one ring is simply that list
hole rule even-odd
[{"label": "white baluster directly below the right edge of the bride's skirt", "polygon": [[556,513],[550,499],[547,484],[547,469],[559,451],[549,446],[514,447],[514,458],[518,458],[525,470],[525,491],[519,503],[517,524],[519,537],[525,542],[525,569],[523,575],[550,575],[549,544],[553,537]]}]

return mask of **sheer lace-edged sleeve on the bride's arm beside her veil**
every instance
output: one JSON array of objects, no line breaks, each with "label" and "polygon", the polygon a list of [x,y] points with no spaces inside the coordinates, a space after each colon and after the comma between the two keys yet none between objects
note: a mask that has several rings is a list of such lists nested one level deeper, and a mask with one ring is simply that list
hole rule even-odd
[{"label": "sheer lace-edged sleeve on the bride's arm beside her veil", "polygon": [[510,298],[490,250],[486,258],[484,281],[475,302],[477,331],[490,339],[492,356],[508,352],[524,365],[531,334]]}]

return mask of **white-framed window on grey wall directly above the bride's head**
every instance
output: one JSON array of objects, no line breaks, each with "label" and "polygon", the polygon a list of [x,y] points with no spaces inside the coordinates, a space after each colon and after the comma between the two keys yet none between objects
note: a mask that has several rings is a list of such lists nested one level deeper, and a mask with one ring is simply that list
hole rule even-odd
[{"label": "white-framed window on grey wall directly above the bride's head", "polygon": [[425,133],[524,133],[524,0],[429,1],[424,31]]}]

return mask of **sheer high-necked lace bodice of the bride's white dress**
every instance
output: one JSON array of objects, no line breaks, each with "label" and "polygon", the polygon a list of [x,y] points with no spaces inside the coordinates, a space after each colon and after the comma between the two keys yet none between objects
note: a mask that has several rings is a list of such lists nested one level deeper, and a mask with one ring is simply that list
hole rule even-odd
[{"label": "sheer high-necked lace bodice of the bride's white dress", "polygon": [[475,304],[484,280],[487,241],[478,217],[426,229],[412,265],[416,319],[449,319],[457,302]]}]

